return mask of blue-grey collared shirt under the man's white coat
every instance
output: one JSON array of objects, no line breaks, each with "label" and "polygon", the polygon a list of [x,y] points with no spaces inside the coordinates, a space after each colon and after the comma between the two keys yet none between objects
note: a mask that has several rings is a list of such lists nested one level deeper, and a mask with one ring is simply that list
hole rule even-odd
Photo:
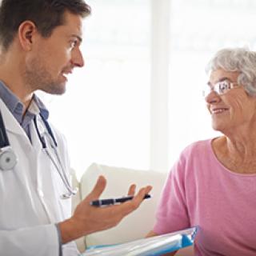
[{"label": "blue-grey collared shirt under the man's white coat", "polygon": [[[30,138],[30,123],[35,117],[35,113],[30,111],[30,108],[26,110],[26,113],[23,116],[23,104],[19,101],[17,96],[13,94],[13,92],[0,81],[0,98],[6,104],[7,108],[10,110],[10,113],[14,115],[14,118],[18,121],[18,123],[25,130],[28,138]],[[47,119],[49,117],[49,111],[46,109],[46,106],[41,102],[41,100],[34,94],[33,100],[38,106],[40,114],[42,117]]]}]

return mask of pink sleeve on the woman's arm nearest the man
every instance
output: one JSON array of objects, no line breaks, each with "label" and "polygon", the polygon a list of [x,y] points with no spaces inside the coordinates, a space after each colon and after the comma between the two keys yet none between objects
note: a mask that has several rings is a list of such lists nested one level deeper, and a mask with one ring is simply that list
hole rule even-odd
[{"label": "pink sleeve on the woman's arm nearest the man", "polygon": [[186,161],[181,157],[170,170],[156,214],[154,232],[157,234],[166,234],[190,226],[184,186],[185,169]]}]

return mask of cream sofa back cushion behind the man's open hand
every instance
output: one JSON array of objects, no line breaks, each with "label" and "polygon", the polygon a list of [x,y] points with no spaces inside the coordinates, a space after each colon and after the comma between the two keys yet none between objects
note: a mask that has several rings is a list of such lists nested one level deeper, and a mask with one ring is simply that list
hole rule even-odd
[{"label": "cream sofa back cushion behind the man's open hand", "polygon": [[152,230],[154,214],[159,202],[162,186],[166,174],[152,170],[132,170],[126,168],[92,164],[81,179],[81,195],[85,198],[92,190],[99,175],[107,179],[106,190],[101,198],[116,198],[127,194],[130,184],[135,183],[137,188],[151,185],[152,198],[146,199],[134,213],[122,220],[118,226],[86,236],[86,246],[128,242],[143,238]]}]

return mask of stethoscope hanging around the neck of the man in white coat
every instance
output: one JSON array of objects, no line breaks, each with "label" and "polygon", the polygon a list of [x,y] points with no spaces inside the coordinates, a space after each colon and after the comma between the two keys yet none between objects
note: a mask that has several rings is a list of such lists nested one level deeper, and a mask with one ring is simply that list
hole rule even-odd
[{"label": "stethoscope hanging around the neck of the man in white coat", "polygon": [[[42,144],[42,149],[46,152],[47,156],[50,158],[50,161],[54,164],[55,169],[58,171],[59,177],[62,179],[63,184],[66,186],[67,193],[62,194],[61,198],[68,199],[71,196],[77,194],[78,189],[77,188],[75,190],[72,189],[72,186],[70,185],[70,181],[62,165],[61,158],[59,157],[59,154],[58,154],[58,150],[57,150],[58,144],[56,142],[56,139],[54,138],[54,134],[50,128],[49,123],[45,118],[43,118],[42,114],[40,114],[40,117],[42,118],[42,122],[46,127],[46,134],[48,134],[50,137],[50,146],[54,150],[54,154],[57,158],[57,162],[53,158],[52,154],[50,154],[50,151],[46,145],[46,138],[42,136],[42,134],[39,132],[36,116],[34,117],[35,130],[37,131],[38,138],[40,139],[40,142]],[[6,133],[6,127],[3,122],[2,113],[0,111],[0,170],[12,170],[14,166],[16,166],[17,162],[18,162],[18,158],[14,150],[10,146],[10,142]]]}]

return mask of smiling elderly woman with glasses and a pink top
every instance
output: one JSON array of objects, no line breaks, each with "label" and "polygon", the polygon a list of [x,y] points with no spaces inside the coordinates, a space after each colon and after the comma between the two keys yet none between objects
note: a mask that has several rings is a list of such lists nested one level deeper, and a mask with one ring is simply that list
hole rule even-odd
[{"label": "smiling elderly woman with glasses and a pink top", "polygon": [[206,105],[223,135],[182,152],[148,236],[199,226],[194,255],[255,256],[256,52],[220,50],[208,68]]}]

